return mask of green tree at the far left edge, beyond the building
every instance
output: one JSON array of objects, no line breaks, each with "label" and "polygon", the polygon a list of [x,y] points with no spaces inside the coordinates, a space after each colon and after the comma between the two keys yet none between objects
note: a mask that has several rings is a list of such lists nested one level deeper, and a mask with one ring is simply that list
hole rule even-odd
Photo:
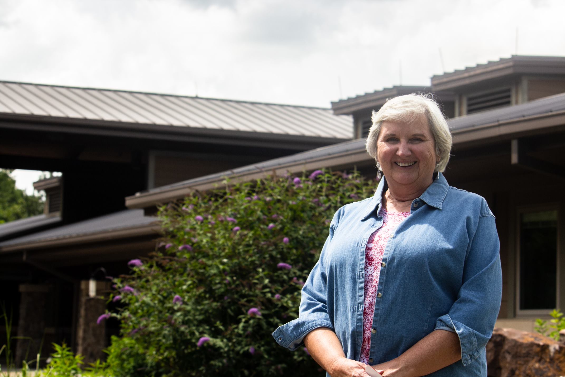
[{"label": "green tree at the far left edge, beyond the building", "polygon": [[0,169],[0,224],[43,213],[41,196],[27,195],[16,188],[12,171]]}]

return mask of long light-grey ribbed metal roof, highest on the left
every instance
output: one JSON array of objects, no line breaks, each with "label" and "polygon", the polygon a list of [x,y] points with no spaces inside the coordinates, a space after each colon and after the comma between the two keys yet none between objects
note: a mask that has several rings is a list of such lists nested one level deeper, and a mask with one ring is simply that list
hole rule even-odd
[{"label": "long light-grey ribbed metal roof, highest on the left", "polygon": [[143,125],[351,139],[331,109],[0,81],[0,116],[37,115]]}]

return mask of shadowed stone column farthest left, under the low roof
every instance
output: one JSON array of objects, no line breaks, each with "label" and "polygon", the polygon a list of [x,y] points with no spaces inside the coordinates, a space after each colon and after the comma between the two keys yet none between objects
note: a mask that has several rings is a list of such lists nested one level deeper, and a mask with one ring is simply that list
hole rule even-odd
[{"label": "shadowed stone column farthest left, under the low roof", "polygon": [[[49,290],[47,284],[20,284],[20,315],[18,319],[18,339],[14,362],[21,367],[22,361],[37,357],[44,336],[47,309],[49,308]],[[45,356],[45,355],[42,355]]]}]

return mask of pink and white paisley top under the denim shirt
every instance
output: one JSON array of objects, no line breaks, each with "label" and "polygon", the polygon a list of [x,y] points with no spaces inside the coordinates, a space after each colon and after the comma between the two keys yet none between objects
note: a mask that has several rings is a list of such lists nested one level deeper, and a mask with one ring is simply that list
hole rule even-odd
[{"label": "pink and white paisley top under the denim shirt", "polygon": [[381,263],[385,252],[386,242],[390,234],[396,230],[398,224],[410,212],[387,212],[381,208],[379,212],[383,216],[383,226],[375,230],[367,241],[365,247],[365,295],[363,302],[363,344],[361,345],[361,357],[359,361],[369,364],[369,351],[371,349],[371,328],[373,325],[373,315],[375,314],[375,299],[379,288],[379,275]]}]

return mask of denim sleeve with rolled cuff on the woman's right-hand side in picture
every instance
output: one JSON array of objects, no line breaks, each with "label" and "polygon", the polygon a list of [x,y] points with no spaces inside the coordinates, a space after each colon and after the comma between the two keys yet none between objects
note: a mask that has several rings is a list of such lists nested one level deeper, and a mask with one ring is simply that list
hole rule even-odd
[{"label": "denim sleeve with rolled cuff on the woman's right-hand side in picture", "polygon": [[464,366],[475,360],[490,339],[500,310],[502,269],[495,219],[479,217],[463,267],[457,300],[440,316],[435,329],[454,331],[459,336]]}]

